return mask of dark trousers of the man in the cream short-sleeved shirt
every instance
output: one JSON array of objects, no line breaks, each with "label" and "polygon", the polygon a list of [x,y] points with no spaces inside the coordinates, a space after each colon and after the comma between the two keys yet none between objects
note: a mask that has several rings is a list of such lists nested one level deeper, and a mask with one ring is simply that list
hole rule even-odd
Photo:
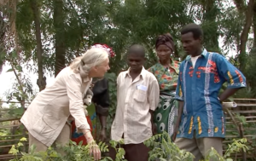
[{"label": "dark trousers of the man in the cream short-sleeved shirt", "polygon": [[[121,145],[125,149],[125,159],[128,161],[148,161],[149,148],[143,143]],[[110,158],[115,160],[116,152],[113,147],[109,148]]]}]

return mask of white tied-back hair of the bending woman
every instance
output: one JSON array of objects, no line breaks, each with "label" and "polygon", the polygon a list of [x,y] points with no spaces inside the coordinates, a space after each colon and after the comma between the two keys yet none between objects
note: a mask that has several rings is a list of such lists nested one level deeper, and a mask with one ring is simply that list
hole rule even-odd
[{"label": "white tied-back hair of the bending woman", "polygon": [[108,51],[106,49],[88,49],[84,55],[73,60],[70,68],[73,69],[73,72],[80,73],[82,80],[84,80],[88,77],[91,67],[99,66],[107,59]]}]

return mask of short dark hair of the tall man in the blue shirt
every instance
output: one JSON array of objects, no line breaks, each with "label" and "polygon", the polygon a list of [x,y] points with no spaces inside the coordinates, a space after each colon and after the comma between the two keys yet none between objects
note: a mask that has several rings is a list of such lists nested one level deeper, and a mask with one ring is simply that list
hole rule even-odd
[{"label": "short dark hair of the tall man in the blue shirt", "polygon": [[193,37],[195,39],[198,39],[198,38],[203,36],[203,32],[202,32],[201,26],[196,25],[195,23],[183,26],[183,28],[180,31],[180,33],[182,35],[186,34],[186,33],[189,33],[189,32],[193,33]]}]

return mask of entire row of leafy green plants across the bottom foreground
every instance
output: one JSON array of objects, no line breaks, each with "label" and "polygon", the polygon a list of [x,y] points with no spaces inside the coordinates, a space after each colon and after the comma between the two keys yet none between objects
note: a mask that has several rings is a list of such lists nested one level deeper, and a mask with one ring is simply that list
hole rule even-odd
[{"label": "entire row of leafy green plants across the bottom foreground", "polygon": [[[30,147],[30,152],[21,152],[21,148],[24,144],[23,142],[26,141],[26,138],[21,138],[20,142],[17,145],[13,145],[10,149],[9,153],[15,155],[15,158],[11,161],[92,161],[94,158],[90,156],[90,147],[82,146],[82,142],[77,145],[75,142],[70,141],[70,144],[65,147],[57,146],[57,150],[53,147],[49,147],[46,152],[35,152],[35,147]],[[205,158],[206,161],[209,160],[218,160],[218,161],[233,161],[230,158],[231,154],[234,152],[240,152],[241,150],[247,152],[248,147],[246,146],[247,139],[239,139],[233,140],[233,143],[228,146],[227,151],[224,154],[224,157],[220,156],[218,152],[212,148],[208,153],[207,157]],[[114,148],[116,151],[116,159],[115,161],[125,160],[125,150],[121,146],[124,144],[124,140],[120,141],[110,141],[111,147]],[[151,148],[149,152],[148,160],[152,161],[193,161],[194,156],[190,152],[186,152],[184,150],[180,150],[175,143],[172,142],[169,135],[164,132],[160,135],[154,135],[149,138],[147,141],[144,141],[144,144],[147,147]],[[101,152],[108,152],[108,146],[105,143],[100,142],[99,147]],[[65,155],[63,155],[65,153]],[[21,157],[19,158],[19,155]],[[112,160],[112,158],[105,157],[101,160]]]}]

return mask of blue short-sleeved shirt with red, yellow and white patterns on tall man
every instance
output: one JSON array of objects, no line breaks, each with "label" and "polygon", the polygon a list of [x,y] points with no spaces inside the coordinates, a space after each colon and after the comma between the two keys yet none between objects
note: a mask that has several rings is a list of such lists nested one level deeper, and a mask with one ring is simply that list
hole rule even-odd
[{"label": "blue short-sleeved shirt with red, yellow and white patterns on tall man", "polygon": [[224,112],[218,101],[223,83],[228,88],[246,87],[246,78],[223,55],[203,50],[192,66],[191,56],[179,68],[176,99],[184,101],[177,137],[224,137]]}]

